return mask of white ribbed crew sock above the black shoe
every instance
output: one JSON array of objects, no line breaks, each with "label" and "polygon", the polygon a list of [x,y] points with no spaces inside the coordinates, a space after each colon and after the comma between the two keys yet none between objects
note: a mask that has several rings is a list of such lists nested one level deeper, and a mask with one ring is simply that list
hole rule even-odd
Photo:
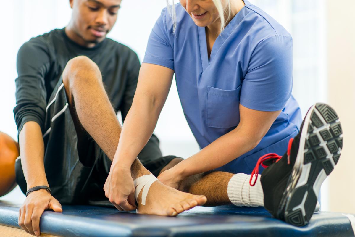
[{"label": "white ribbed crew sock above the black shoe", "polygon": [[[229,200],[236,206],[264,206],[264,193],[260,178],[255,186],[249,184],[251,175],[237,173],[230,178],[227,188]],[[253,182],[254,182],[253,178]]]}]

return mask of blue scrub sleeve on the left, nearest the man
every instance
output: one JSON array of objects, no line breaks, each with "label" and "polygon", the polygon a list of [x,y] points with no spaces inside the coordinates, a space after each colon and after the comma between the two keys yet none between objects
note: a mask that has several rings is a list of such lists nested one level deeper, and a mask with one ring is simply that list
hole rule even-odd
[{"label": "blue scrub sleeve on the left, nearest the man", "polygon": [[157,64],[174,70],[174,51],[168,37],[166,15],[168,14],[165,8],[149,36],[143,63]]}]

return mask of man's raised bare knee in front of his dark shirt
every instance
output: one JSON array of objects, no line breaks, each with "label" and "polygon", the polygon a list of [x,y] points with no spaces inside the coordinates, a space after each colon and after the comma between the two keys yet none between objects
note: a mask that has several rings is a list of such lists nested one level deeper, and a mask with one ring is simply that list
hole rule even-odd
[{"label": "man's raised bare knee in front of his dark shirt", "polygon": [[100,69],[94,61],[87,56],[76,56],[69,60],[63,70],[62,80],[66,89],[77,84],[102,81]]}]

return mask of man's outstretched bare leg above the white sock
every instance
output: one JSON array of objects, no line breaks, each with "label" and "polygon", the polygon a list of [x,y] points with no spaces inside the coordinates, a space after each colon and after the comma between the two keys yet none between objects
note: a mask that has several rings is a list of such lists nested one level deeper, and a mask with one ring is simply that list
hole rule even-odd
[{"label": "man's outstretched bare leg above the white sock", "polygon": [[[182,160],[182,158],[171,160],[160,173],[170,169]],[[207,202],[204,206],[231,204],[227,193],[227,187],[228,182],[233,175],[233,173],[222,171],[211,171],[192,175],[182,181],[179,190],[195,195],[205,195],[207,197]]]}]

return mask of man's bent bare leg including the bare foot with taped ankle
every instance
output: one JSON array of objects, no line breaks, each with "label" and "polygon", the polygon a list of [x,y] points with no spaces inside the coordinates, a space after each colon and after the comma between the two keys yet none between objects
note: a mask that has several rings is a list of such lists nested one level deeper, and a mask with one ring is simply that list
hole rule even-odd
[{"label": "man's bent bare leg including the bare foot with taped ankle", "polygon": [[[62,79],[73,120],[77,123],[76,130],[80,132],[82,126],[113,160],[121,125],[104,89],[98,66],[86,56],[75,57],[67,63]],[[133,162],[131,173],[133,180],[151,174],[138,159]],[[141,194],[138,196],[139,213],[171,216],[203,205],[206,197],[184,193],[155,181],[149,189],[146,205],[140,205],[140,201]]]}]

